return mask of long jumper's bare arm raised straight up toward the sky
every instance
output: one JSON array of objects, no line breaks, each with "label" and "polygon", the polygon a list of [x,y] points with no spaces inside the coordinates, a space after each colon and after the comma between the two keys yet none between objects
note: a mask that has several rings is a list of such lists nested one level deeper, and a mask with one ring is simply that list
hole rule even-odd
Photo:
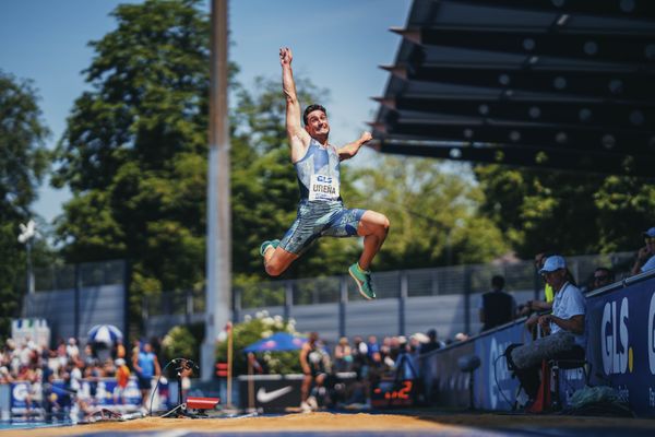
[{"label": "long jumper's bare arm raised straight up toward the sky", "polygon": [[291,162],[305,156],[311,137],[300,125],[300,103],[296,94],[296,83],[291,70],[294,55],[291,49],[283,47],[279,49],[279,63],[282,64],[282,88],[286,97],[286,131],[291,147]]}]

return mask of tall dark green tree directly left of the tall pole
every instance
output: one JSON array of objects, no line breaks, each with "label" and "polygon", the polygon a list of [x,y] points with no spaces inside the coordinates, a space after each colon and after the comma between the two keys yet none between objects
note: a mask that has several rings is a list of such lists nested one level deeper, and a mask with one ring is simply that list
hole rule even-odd
[{"label": "tall dark green tree directly left of the tall pole", "polygon": [[199,0],[122,4],[100,40],[56,156],[73,193],[57,223],[69,262],[132,262],[144,294],[201,287],[209,20]]}]

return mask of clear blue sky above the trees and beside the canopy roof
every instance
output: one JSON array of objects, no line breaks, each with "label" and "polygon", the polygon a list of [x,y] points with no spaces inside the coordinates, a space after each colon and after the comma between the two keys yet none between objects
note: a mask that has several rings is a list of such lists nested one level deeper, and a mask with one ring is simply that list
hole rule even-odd
[{"label": "clear blue sky above the trees and beside the canopy roof", "polygon": [[[33,81],[43,120],[55,147],[66,129],[73,102],[90,86],[82,71],[91,64],[87,43],[116,28],[110,12],[117,0],[0,0],[0,70]],[[209,2],[206,3],[209,11]],[[253,85],[260,75],[278,79],[279,47],[294,52],[294,72],[330,91],[324,103],[331,142],[343,144],[368,130],[378,105],[370,97],[384,93],[412,0],[231,0],[229,59],[240,68],[239,82]],[[374,152],[362,149],[353,160],[367,163]],[[350,164],[350,163],[348,163]],[[33,205],[46,222],[61,214],[71,198],[48,180]]]}]

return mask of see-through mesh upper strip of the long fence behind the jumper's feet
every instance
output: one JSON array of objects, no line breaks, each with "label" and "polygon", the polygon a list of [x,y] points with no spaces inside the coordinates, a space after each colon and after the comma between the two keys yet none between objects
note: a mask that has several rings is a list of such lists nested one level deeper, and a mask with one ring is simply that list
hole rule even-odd
[{"label": "see-through mesh upper strip of the long fence behind the jumper's feet", "polygon": [[[608,267],[619,281],[629,275],[634,260],[632,252],[569,257],[569,270],[580,286],[586,286],[597,267]],[[99,273],[97,273],[99,274]],[[376,272],[373,285],[378,299],[398,298],[401,281],[406,277],[406,297],[444,296],[484,293],[490,290],[496,274],[505,279],[505,291],[543,290],[543,282],[532,261],[503,264],[466,264],[434,269]],[[95,277],[95,276],[94,276]],[[233,290],[234,309],[337,304],[342,298],[344,276],[270,281],[237,286]],[[347,299],[362,300],[354,282],[345,276]],[[145,298],[150,316],[198,314],[204,311],[203,291],[167,292]]]}]

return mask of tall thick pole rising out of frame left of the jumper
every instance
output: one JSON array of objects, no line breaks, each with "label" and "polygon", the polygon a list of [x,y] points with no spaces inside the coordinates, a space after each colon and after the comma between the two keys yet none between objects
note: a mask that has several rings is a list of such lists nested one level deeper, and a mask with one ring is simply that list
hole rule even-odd
[{"label": "tall thick pole rising out of frame left of the jumper", "polygon": [[212,0],[206,308],[201,358],[203,381],[210,381],[214,374],[216,336],[229,321],[231,300],[227,3],[228,0]]}]

